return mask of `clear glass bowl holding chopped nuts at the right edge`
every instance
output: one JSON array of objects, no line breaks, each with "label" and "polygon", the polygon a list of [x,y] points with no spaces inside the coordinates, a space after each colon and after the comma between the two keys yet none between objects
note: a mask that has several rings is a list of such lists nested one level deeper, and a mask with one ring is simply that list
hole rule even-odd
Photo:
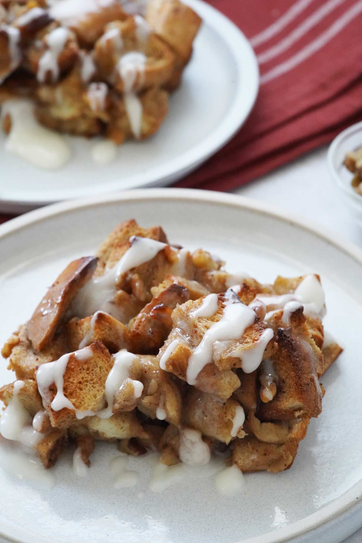
[{"label": "clear glass bowl holding chopped nuts at the right edge", "polygon": [[328,149],[327,162],[337,189],[362,226],[362,195],[354,191],[353,174],[343,164],[346,153],[358,147],[362,147],[362,122],[353,124],[334,138]]}]

